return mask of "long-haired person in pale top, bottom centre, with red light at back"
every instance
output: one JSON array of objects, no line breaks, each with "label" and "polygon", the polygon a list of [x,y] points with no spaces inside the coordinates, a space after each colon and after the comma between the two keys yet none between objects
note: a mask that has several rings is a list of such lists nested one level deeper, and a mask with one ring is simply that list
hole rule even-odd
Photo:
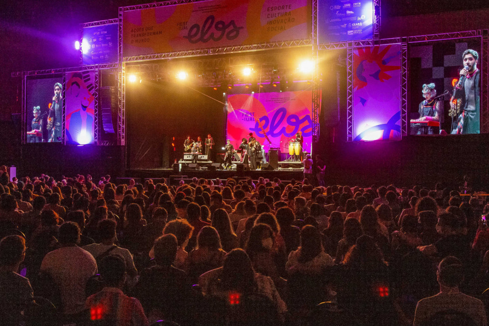
[{"label": "long-haired person in pale top, bottom centre, with red light at back", "polygon": [[279,315],[285,314],[287,305],[280,297],[270,277],[256,273],[243,249],[233,249],[224,260],[223,267],[212,269],[199,277],[204,295],[229,299],[230,292],[240,296],[260,295],[268,298]]}]

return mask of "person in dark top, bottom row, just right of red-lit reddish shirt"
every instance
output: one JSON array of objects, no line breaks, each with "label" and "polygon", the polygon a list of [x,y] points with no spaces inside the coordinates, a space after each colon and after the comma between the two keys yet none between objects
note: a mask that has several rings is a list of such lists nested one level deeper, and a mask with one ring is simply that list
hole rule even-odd
[{"label": "person in dark top, bottom row, just right of red-lit reddish shirt", "polygon": [[173,234],[161,236],[154,242],[156,266],[142,271],[134,290],[148,317],[153,314],[175,322],[191,318],[191,284],[185,272],[173,266],[178,248]]}]

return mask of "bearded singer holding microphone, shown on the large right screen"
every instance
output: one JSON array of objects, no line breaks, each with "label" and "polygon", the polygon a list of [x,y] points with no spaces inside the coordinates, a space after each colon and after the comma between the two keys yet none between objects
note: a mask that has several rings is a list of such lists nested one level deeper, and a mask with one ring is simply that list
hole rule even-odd
[{"label": "bearded singer holding microphone, shown on the large right screen", "polygon": [[[452,134],[478,134],[480,133],[480,103],[481,103],[481,74],[477,68],[479,54],[477,51],[467,49],[462,54],[463,69],[460,70],[460,79],[455,85],[450,100],[452,110],[454,102],[461,101],[461,113],[457,125],[453,126]],[[457,100],[457,101],[455,101]]]}]

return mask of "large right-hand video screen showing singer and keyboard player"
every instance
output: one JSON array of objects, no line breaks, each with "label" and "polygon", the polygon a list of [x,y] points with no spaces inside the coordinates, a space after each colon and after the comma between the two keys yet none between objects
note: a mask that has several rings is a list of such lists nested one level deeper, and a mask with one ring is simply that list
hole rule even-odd
[{"label": "large right-hand video screen showing singer and keyboard player", "polygon": [[480,40],[433,42],[409,53],[411,135],[479,134]]}]

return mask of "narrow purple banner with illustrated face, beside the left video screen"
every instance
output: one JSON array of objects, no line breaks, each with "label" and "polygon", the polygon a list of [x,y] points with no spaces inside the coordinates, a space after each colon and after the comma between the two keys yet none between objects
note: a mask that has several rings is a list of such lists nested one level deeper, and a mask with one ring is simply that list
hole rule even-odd
[{"label": "narrow purple banner with illustrated face, beside the left video screen", "polygon": [[92,144],[95,72],[69,72],[66,80],[66,144]]}]

